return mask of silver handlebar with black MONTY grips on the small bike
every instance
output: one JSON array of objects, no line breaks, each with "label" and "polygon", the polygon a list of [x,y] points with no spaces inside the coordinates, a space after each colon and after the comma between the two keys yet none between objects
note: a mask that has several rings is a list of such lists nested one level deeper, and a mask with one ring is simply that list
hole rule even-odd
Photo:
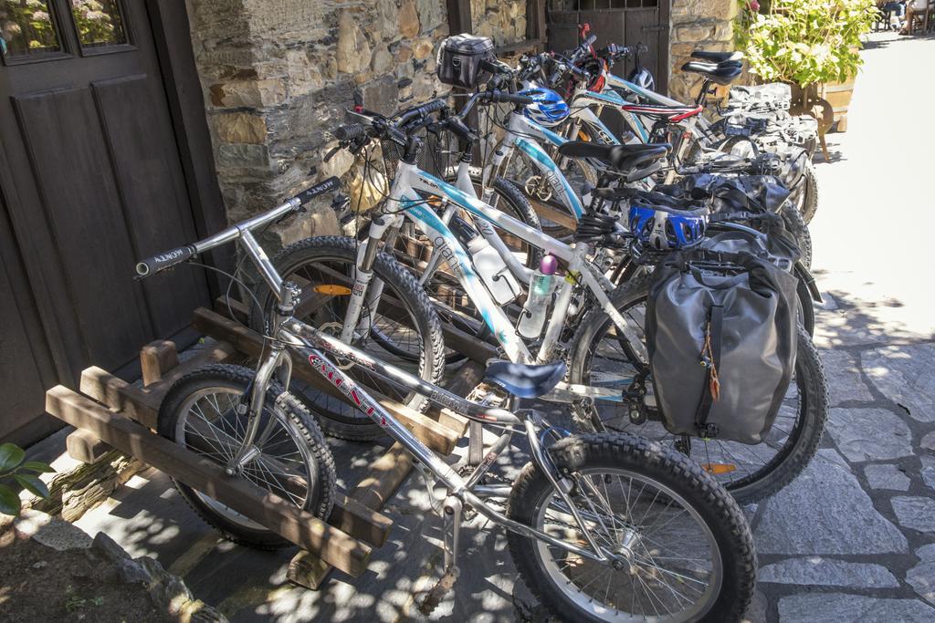
[{"label": "silver handlebar with black MONTY grips on the small bike", "polygon": [[194,258],[194,256],[200,253],[204,253],[205,251],[208,251],[212,248],[220,247],[224,243],[236,240],[244,232],[249,232],[256,229],[257,227],[266,225],[266,223],[281,219],[282,217],[294,212],[302,205],[308,204],[309,201],[318,195],[324,194],[327,191],[332,191],[339,186],[340,180],[338,177],[328,177],[324,180],[324,182],[316,184],[315,186],[312,186],[305,191],[299,192],[294,197],[286,200],[281,205],[277,205],[268,212],[257,215],[252,219],[240,221],[236,225],[231,225],[227,229],[209,236],[204,240],[199,240],[198,242],[190,245],[183,245],[181,247],[173,248],[162,253],[157,253],[151,258],[141,260],[140,262],[137,262],[137,276],[139,278],[152,276],[156,273],[160,273],[164,270],[172,268],[173,266],[177,266],[182,262],[188,262]]}]

